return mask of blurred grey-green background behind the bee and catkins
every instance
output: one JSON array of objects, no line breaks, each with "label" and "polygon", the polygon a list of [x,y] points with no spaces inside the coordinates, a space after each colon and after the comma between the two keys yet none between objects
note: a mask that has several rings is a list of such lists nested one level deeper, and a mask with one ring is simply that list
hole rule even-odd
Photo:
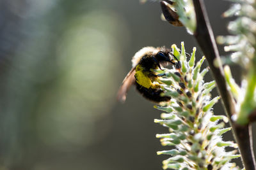
[{"label": "blurred grey-green background behind the bee and catkins", "polygon": [[[228,34],[230,4],[205,3],[214,34]],[[161,169],[159,111],[134,88],[116,101],[140,48],[197,46],[160,16],[153,1],[1,0],[0,169]]]}]

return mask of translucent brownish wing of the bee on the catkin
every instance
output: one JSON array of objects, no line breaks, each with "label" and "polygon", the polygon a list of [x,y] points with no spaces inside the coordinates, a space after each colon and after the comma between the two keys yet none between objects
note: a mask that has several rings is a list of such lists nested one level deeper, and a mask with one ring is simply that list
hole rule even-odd
[{"label": "translucent brownish wing of the bee on the catkin", "polygon": [[121,101],[123,103],[125,102],[128,90],[130,89],[131,85],[135,83],[134,74],[135,74],[135,67],[133,67],[131,71],[129,71],[127,76],[125,76],[122,86],[118,90],[118,94],[117,94],[118,101]]}]

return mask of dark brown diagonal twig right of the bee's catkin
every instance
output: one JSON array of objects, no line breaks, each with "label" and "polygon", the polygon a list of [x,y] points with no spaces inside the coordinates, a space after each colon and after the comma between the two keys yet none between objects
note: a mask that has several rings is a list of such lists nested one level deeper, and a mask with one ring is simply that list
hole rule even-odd
[{"label": "dark brown diagonal twig right of the bee's catkin", "polygon": [[[205,11],[203,0],[193,0],[196,13],[196,31],[194,36],[205,54],[205,58],[209,62],[212,74],[216,80],[216,85],[220,92],[227,116],[230,120],[234,136],[236,138],[244,168],[246,170],[255,169],[255,159],[252,148],[252,132],[250,125],[237,125],[232,121],[232,115],[236,113],[234,99],[230,91],[227,89],[227,81],[225,80],[223,67],[220,60],[220,54],[214,39],[214,35],[209,23],[209,18]],[[217,66],[216,66],[217,63]]]}]

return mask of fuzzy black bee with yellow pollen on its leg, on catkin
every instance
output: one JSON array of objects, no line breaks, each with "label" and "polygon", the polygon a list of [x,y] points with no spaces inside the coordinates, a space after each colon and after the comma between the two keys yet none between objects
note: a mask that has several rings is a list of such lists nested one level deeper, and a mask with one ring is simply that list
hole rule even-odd
[{"label": "fuzzy black bee with yellow pollen on its leg, on catkin", "polygon": [[170,101],[170,97],[161,96],[164,90],[161,89],[159,81],[157,81],[160,75],[154,72],[154,69],[162,69],[162,67],[170,65],[180,69],[180,62],[170,49],[164,46],[157,48],[147,46],[142,48],[132,57],[132,69],[125,76],[122,86],[118,91],[118,101],[125,101],[127,91],[131,85],[135,85],[138,92],[150,101],[155,103]]}]

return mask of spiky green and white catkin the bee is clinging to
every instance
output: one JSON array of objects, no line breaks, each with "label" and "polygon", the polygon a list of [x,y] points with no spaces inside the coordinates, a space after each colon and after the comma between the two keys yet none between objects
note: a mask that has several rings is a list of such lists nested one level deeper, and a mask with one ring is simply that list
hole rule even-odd
[{"label": "spiky green and white catkin the bee is clinging to", "polygon": [[[168,78],[163,77],[163,80],[172,81],[172,85],[168,81],[166,83],[162,81],[163,95],[170,96],[172,99],[170,103],[165,103],[165,106],[155,106],[155,108],[167,112],[161,114],[161,118],[164,120],[156,119],[155,122],[168,127],[170,131],[167,134],[157,134],[156,137],[161,138],[161,145],[176,147],[175,150],[157,152],[157,155],[171,156],[163,161],[163,168],[203,170],[209,167],[209,160],[212,160],[212,169],[219,169],[220,164],[231,168],[234,164],[230,164],[229,161],[236,158],[236,155],[226,153],[224,149],[220,150],[220,148],[236,147],[236,144],[221,139],[221,135],[229,131],[230,128],[223,129],[227,117],[215,116],[212,113],[212,106],[220,97],[209,100],[210,92],[215,87],[215,81],[209,83],[203,81],[204,75],[209,71],[206,68],[200,73],[204,57],[195,66],[196,48],[193,48],[189,62],[186,61],[183,43],[181,52],[176,45],[172,45],[172,49],[172,53],[179,55],[182,60],[180,62],[182,69],[175,69],[180,76],[174,74],[174,70],[165,70]],[[217,124],[218,120],[223,120],[223,122]],[[211,152],[208,152],[210,149]]]}]

